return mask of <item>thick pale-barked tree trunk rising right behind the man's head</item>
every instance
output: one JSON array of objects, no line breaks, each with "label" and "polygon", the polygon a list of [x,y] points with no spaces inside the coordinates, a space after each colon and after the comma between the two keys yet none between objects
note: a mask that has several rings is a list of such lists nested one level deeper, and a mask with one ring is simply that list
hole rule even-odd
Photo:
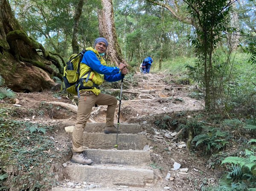
[{"label": "thick pale-barked tree trunk rising right behind the man's head", "polygon": [[113,12],[112,0],[102,0],[102,9],[98,11],[99,34],[108,40],[107,59],[118,66],[121,62],[127,63],[117,41]]}]

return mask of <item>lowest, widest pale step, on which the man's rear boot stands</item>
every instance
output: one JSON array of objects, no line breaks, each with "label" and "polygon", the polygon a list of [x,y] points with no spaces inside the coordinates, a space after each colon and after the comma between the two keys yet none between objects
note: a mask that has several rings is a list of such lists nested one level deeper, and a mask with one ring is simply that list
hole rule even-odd
[{"label": "lowest, widest pale step, on which the man's rear boot stands", "polygon": [[145,186],[151,185],[154,173],[149,167],[122,165],[80,165],[69,162],[64,168],[66,179],[83,182],[95,182],[111,185]]}]

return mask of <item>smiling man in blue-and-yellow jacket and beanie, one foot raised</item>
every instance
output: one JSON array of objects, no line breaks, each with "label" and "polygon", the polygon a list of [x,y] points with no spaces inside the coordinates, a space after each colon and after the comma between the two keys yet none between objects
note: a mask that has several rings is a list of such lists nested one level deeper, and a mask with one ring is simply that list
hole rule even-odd
[{"label": "smiling man in blue-and-yellow jacket and beanie, one foot raised", "polygon": [[99,85],[104,80],[115,82],[121,80],[122,74],[127,73],[124,63],[120,63],[119,67],[108,67],[102,56],[104,56],[108,48],[108,41],[105,38],[96,38],[94,48],[86,48],[84,57],[80,65],[80,80],[78,85],[79,100],[78,111],[76,117],[76,126],[73,130],[73,156],[71,162],[82,165],[91,165],[92,160],[87,158],[87,153],[82,147],[83,131],[87,120],[90,118],[93,105],[108,105],[106,114],[106,127],[104,133],[116,133],[114,126],[114,114],[116,110],[116,97],[102,94]]}]

